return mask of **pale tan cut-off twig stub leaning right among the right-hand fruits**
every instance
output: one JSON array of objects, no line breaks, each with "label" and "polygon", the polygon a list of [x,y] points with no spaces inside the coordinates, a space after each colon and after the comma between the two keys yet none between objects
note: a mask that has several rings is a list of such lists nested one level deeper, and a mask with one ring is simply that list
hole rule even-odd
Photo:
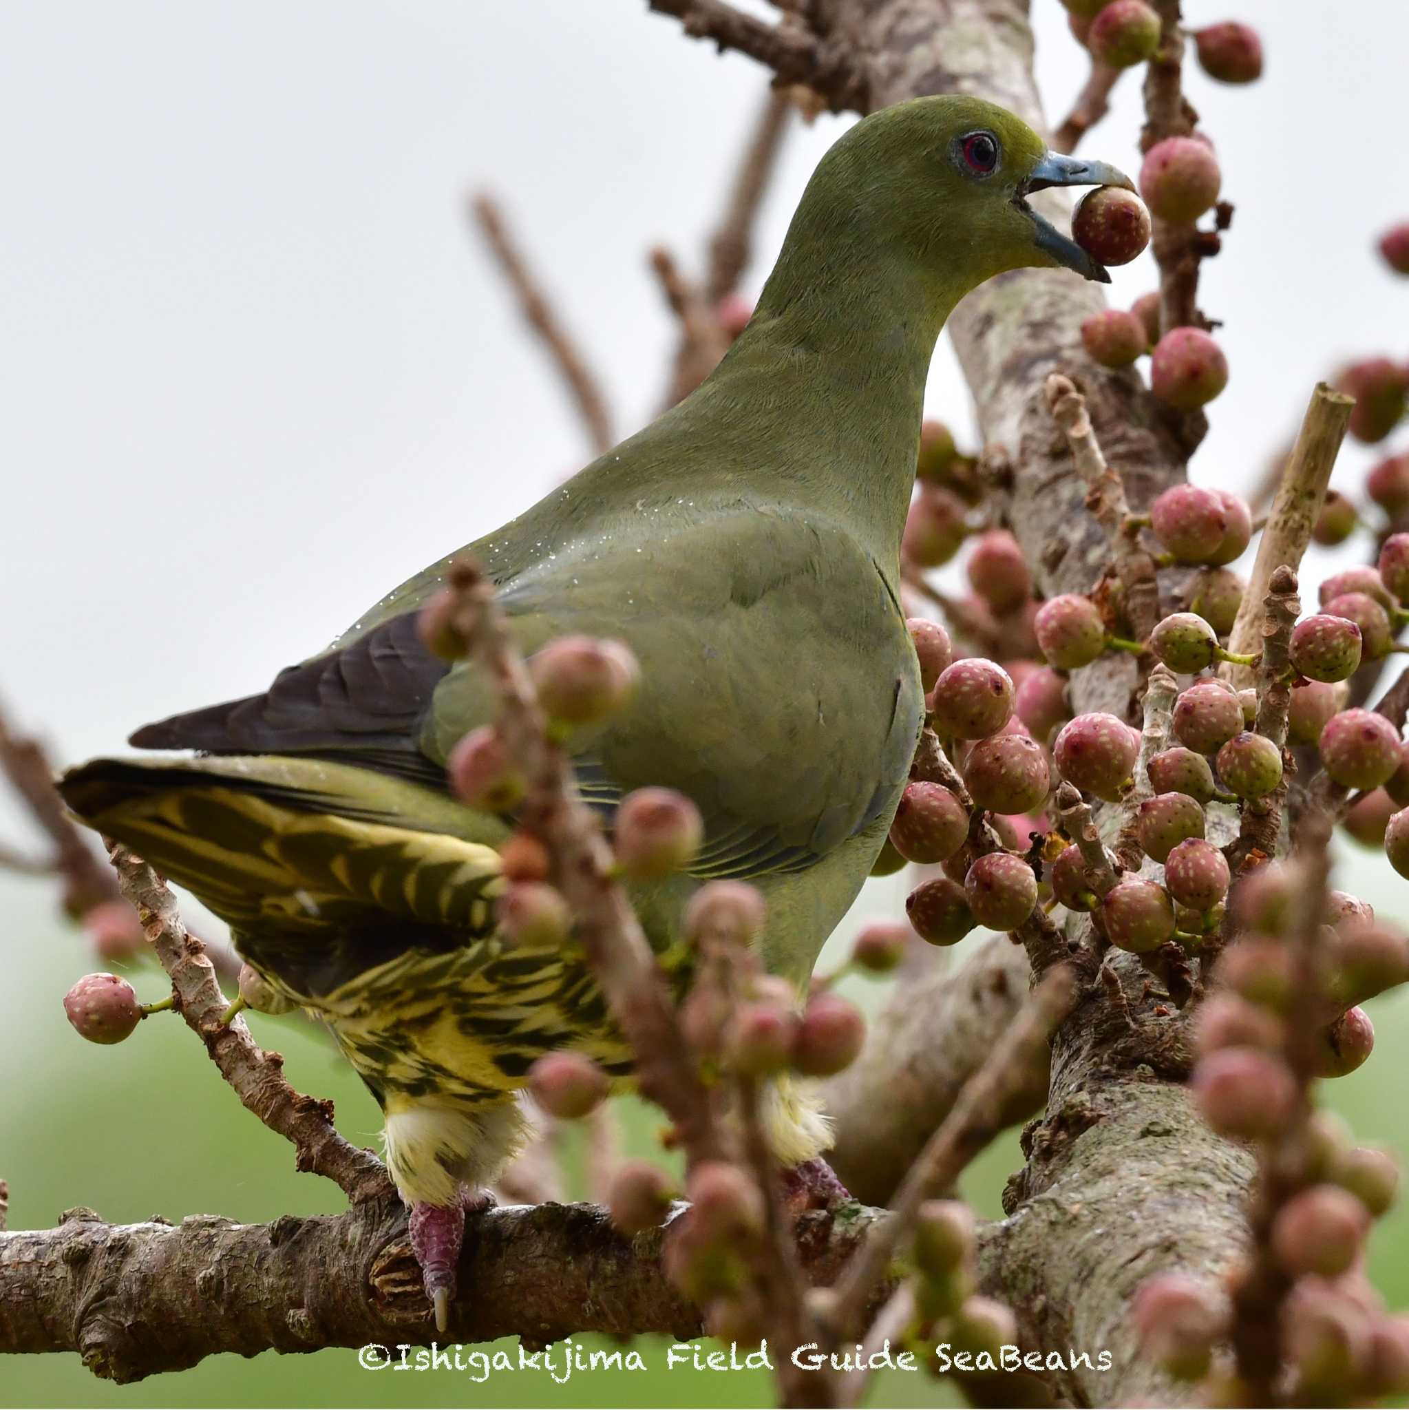
[{"label": "pale tan cut-off twig stub leaning right among the right-hand fruits", "polygon": [[[1260,646],[1262,603],[1272,585],[1272,574],[1282,565],[1293,572],[1301,567],[1354,405],[1353,398],[1332,391],[1324,382],[1317,382],[1312,392],[1296,447],[1277,486],[1277,499],[1257,546],[1253,575],[1233,622],[1229,650],[1236,654],[1250,654]],[[1231,663],[1224,663],[1222,675],[1239,689],[1254,680],[1250,666]]]}]

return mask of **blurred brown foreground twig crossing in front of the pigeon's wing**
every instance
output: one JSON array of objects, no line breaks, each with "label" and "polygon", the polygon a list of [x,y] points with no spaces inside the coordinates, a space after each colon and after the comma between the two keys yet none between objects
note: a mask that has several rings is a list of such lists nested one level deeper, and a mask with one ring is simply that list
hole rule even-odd
[{"label": "blurred brown foreground twig crossing in front of the pigeon's wing", "polygon": [[447,582],[457,595],[455,627],[495,682],[504,749],[530,780],[520,826],[548,849],[552,880],[576,922],[575,936],[635,1055],[638,1086],[671,1115],[692,1162],[723,1159],[710,1093],[689,1059],[641,924],[626,891],[612,880],[612,853],[578,795],[568,756],[548,740],[533,680],[495,603],[493,584],[464,558],[449,565]]}]

